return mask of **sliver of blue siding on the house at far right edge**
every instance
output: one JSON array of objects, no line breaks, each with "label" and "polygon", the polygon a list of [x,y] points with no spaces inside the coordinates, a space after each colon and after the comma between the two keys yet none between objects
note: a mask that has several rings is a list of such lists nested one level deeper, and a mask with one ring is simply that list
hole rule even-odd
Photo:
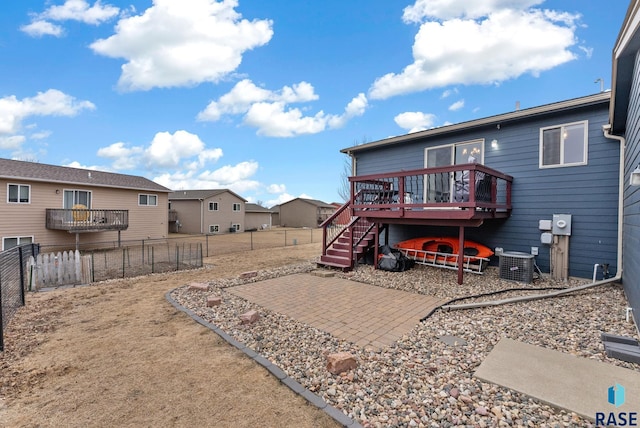
[{"label": "sliver of blue siding on the house at far right edge", "polygon": [[629,185],[631,172],[640,164],[640,54],[636,54],[625,136],[622,284],[629,305],[633,308],[636,325],[640,325],[640,187]]}]

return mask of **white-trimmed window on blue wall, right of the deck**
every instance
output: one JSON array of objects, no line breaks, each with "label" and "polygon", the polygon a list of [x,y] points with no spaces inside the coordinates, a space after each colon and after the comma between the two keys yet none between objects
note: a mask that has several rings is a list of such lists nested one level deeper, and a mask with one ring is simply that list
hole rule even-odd
[{"label": "white-trimmed window on blue wall, right of the deck", "polygon": [[588,121],[540,128],[540,168],[587,164]]}]

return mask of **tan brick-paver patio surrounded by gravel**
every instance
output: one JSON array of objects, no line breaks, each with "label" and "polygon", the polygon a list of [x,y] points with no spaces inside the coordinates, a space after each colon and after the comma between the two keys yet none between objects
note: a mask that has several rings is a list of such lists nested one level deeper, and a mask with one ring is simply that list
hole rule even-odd
[{"label": "tan brick-paver patio surrounded by gravel", "polygon": [[444,303],[433,296],[312,274],[289,275],[227,291],[372,349],[384,348],[400,339],[422,317]]}]

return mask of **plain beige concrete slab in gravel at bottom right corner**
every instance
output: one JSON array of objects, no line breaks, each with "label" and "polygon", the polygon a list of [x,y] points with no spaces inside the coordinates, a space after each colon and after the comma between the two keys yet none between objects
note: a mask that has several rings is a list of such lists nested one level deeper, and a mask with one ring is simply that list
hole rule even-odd
[{"label": "plain beige concrete slab in gravel at bottom right corner", "polygon": [[[592,420],[597,412],[640,410],[640,373],[511,339],[498,342],[475,376]],[[625,390],[617,407],[608,402],[616,384]]]}]

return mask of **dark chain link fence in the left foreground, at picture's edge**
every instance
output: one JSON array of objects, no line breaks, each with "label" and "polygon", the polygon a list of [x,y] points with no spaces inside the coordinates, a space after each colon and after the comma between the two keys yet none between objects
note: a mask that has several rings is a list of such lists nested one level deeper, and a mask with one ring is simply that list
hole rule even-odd
[{"label": "dark chain link fence in the left foreground, at picture's edge", "polygon": [[0,351],[4,351],[4,331],[9,321],[25,305],[27,260],[36,256],[38,249],[37,244],[29,244],[0,252]]}]

